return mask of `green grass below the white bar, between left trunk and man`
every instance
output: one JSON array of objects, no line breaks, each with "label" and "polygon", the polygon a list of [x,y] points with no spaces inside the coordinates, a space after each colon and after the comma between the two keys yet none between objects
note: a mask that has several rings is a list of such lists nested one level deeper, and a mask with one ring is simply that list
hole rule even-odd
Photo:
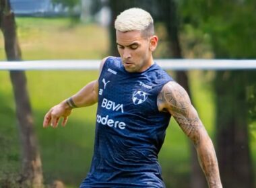
[{"label": "green grass below the white bar, between left trunk and man", "polygon": [[32,107],[36,109],[34,116],[46,181],[61,179],[77,187],[86,176],[94,146],[96,105],[75,109],[65,128],[60,126],[57,130],[43,129],[42,120],[50,107],[76,93],[86,83],[96,79],[97,75],[96,71],[28,73],[28,80],[31,81],[28,90],[32,93]]}]

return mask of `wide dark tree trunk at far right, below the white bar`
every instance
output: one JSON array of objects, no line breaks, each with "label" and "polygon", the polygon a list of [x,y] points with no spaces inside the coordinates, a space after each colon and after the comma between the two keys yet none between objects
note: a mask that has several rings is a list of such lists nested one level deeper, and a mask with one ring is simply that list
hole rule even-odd
[{"label": "wide dark tree trunk at far right, below the white bar", "polygon": [[216,127],[220,175],[223,187],[253,187],[249,150],[247,73],[219,71],[216,74]]}]

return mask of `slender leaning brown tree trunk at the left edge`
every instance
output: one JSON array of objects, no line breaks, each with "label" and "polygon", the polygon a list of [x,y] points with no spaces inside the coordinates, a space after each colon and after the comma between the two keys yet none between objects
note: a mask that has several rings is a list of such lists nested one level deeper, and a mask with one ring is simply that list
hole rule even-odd
[{"label": "slender leaning brown tree trunk at the left edge", "polygon": [[[11,11],[9,1],[0,0],[0,5],[0,29],[5,40],[7,60],[21,60],[14,14]],[[21,187],[42,187],[42,164],[34,133],[32,109],[26,89],[26,75],[23,71],[11,71],[10,77],[22,147]]]}]

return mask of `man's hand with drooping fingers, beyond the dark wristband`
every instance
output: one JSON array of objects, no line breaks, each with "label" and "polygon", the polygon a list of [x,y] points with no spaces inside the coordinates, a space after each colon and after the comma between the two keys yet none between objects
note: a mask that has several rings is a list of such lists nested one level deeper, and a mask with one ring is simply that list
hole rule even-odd
[{"label": "man's hand with drooping fingers, beyond the dark wristband", "polygon": [[44,115],[43,127],[46,128],[51,124],[53,128],[57,128],[61,117],[63,117],[61,125],[65,126],[71,111],[72,109],[65,103],[65,101],[55,105],[46,113],[46,115]]}]

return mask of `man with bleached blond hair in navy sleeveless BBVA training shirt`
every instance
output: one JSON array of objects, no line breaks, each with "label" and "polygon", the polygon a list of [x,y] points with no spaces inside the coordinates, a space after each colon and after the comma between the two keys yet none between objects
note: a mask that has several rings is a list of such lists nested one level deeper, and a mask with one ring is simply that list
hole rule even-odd
[{"label": "man with bleached blond hair in navy sleeveless BBVA training shirt", "polygon": [[128,9],[115,21],[121,58],[102,60],[100,76],[51,108],[44,127],[63,126],[75,107],[98,102],[94,156],[80,187],[165,187],[158,152],[170,115],[193,141],[209,187],[222,187],[212,140],[185,89],[152,56],[158,38],[150,13]]}]

